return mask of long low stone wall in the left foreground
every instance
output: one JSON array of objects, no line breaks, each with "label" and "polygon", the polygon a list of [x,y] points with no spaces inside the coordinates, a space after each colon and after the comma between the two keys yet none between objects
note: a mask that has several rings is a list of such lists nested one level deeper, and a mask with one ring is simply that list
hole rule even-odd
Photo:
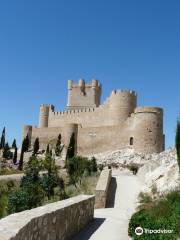
[{"label": "long low stone wall in the left foreground", "polygon": [[93,216],[94,196],[79,195],[1,219],[0,239],[72,239]]}]

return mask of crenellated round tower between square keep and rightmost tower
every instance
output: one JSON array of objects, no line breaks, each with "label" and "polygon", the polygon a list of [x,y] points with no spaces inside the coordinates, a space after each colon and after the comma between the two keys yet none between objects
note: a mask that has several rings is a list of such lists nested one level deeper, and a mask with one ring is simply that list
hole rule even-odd
[{"label": "crenellated round tower between square keep and rightmost tower", "polygon": [[137,94],[134,91],[113,91],[109,98],[109,123],[123,123],[134,112]]}]

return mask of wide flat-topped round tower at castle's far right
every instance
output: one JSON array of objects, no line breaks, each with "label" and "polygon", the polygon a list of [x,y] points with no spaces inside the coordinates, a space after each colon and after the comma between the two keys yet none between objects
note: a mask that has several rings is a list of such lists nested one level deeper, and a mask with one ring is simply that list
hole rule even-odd
[{"label": "wide flat-topped round tower at castle's far right", "polygon": [[164,150],[162,108],[138,107],[135,109],[133,143],[136,152],[159,153]]}]

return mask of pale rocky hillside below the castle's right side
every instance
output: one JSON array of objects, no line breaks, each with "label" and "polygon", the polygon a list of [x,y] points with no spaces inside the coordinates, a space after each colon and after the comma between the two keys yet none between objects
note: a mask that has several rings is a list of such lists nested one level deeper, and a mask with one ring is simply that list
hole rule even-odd
[{"label": "pale rocky hillside below the castle's right side", "polygon": [[134,153],[132,149],[96,154],[98,164],[125,168],[139,166],[138,177],[144,183],[144,192],[152,189],[158,193],[171,191],[180,186],[179,170],[175,149],[160,154]]}]

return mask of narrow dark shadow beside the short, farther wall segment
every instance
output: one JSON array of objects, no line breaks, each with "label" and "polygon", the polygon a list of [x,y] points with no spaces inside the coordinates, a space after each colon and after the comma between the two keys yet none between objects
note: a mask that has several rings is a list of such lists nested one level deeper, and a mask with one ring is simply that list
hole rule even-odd
[{"label": "narrow dark shadow beside the short, farther wall segment", "polygon": [[117,189],[116,178],[112,177],[110,185],[109,185],[108,194],[107,194],[108,198],[107,198],[107,202],[106,202],[106,208],[113,208],[114,207],[116,189]]}]

